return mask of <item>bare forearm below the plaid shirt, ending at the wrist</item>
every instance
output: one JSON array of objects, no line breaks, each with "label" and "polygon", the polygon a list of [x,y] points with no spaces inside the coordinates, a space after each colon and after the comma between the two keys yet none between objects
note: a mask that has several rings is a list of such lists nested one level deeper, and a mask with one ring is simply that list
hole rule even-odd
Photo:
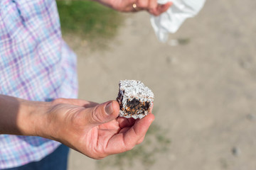
[{"label": "bare forearm below the plaid shirt, ending at the wrist", "polygon": [[47,105],[0,95],[0,134],[38,135]]}]

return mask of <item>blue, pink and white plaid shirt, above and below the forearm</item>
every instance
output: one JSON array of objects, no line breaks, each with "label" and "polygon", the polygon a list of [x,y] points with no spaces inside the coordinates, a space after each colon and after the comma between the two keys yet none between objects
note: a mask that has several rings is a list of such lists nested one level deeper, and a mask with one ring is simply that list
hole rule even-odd
[{"label": "blue, pink and white plaid shirt, above and below the forearm", "polygon": [[[54,0],[0,0],[0,94],[31,101],[76,98],[76,57],[61,38]],[[38,161],[60,145],[0,135],[0,169]]]}]

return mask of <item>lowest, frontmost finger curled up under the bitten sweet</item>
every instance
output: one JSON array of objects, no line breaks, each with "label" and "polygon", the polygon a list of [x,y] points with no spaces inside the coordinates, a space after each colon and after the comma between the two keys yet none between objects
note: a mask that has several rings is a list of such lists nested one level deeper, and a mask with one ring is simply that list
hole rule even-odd
[{"label": "lowest, frontmost finger curled up under the bitten sweet", "polygon": [[136,120],[132,128],[127,128],[124,133],[119,133],[110,138],[106,152],[108,154],[118,154],[132,149],[137,142],[146,135],[146,131],[154,120],[154,115],[149,114],[141,120]]}]

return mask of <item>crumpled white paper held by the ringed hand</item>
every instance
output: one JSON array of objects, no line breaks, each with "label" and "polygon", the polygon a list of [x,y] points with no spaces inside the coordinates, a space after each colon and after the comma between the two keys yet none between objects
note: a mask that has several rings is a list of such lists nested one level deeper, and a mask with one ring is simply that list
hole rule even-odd
[{"label": "crumpled white paper held by the ringed hand", "polygon": [[169,33],[176,33],[186,18],[196,16],[206,0],[158,0],[159,4],[173,2],[170,8],[160,16],[151,15],[151,26],[154,28],[157,38],[166,42]]}]

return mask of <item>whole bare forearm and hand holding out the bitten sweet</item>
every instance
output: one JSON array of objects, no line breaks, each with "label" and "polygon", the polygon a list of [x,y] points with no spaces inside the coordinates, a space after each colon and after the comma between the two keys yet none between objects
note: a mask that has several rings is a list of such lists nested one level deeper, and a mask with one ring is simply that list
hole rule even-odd
[{"label": "whole bare forearm and hand holding out the bitten sweet", "polygon": [[152,113],[141,120],[119,118],[117,101],[35,102],[0,95],[0,108],[0,134],[46,137],[93,159],[132,149],[154,120]]}]

